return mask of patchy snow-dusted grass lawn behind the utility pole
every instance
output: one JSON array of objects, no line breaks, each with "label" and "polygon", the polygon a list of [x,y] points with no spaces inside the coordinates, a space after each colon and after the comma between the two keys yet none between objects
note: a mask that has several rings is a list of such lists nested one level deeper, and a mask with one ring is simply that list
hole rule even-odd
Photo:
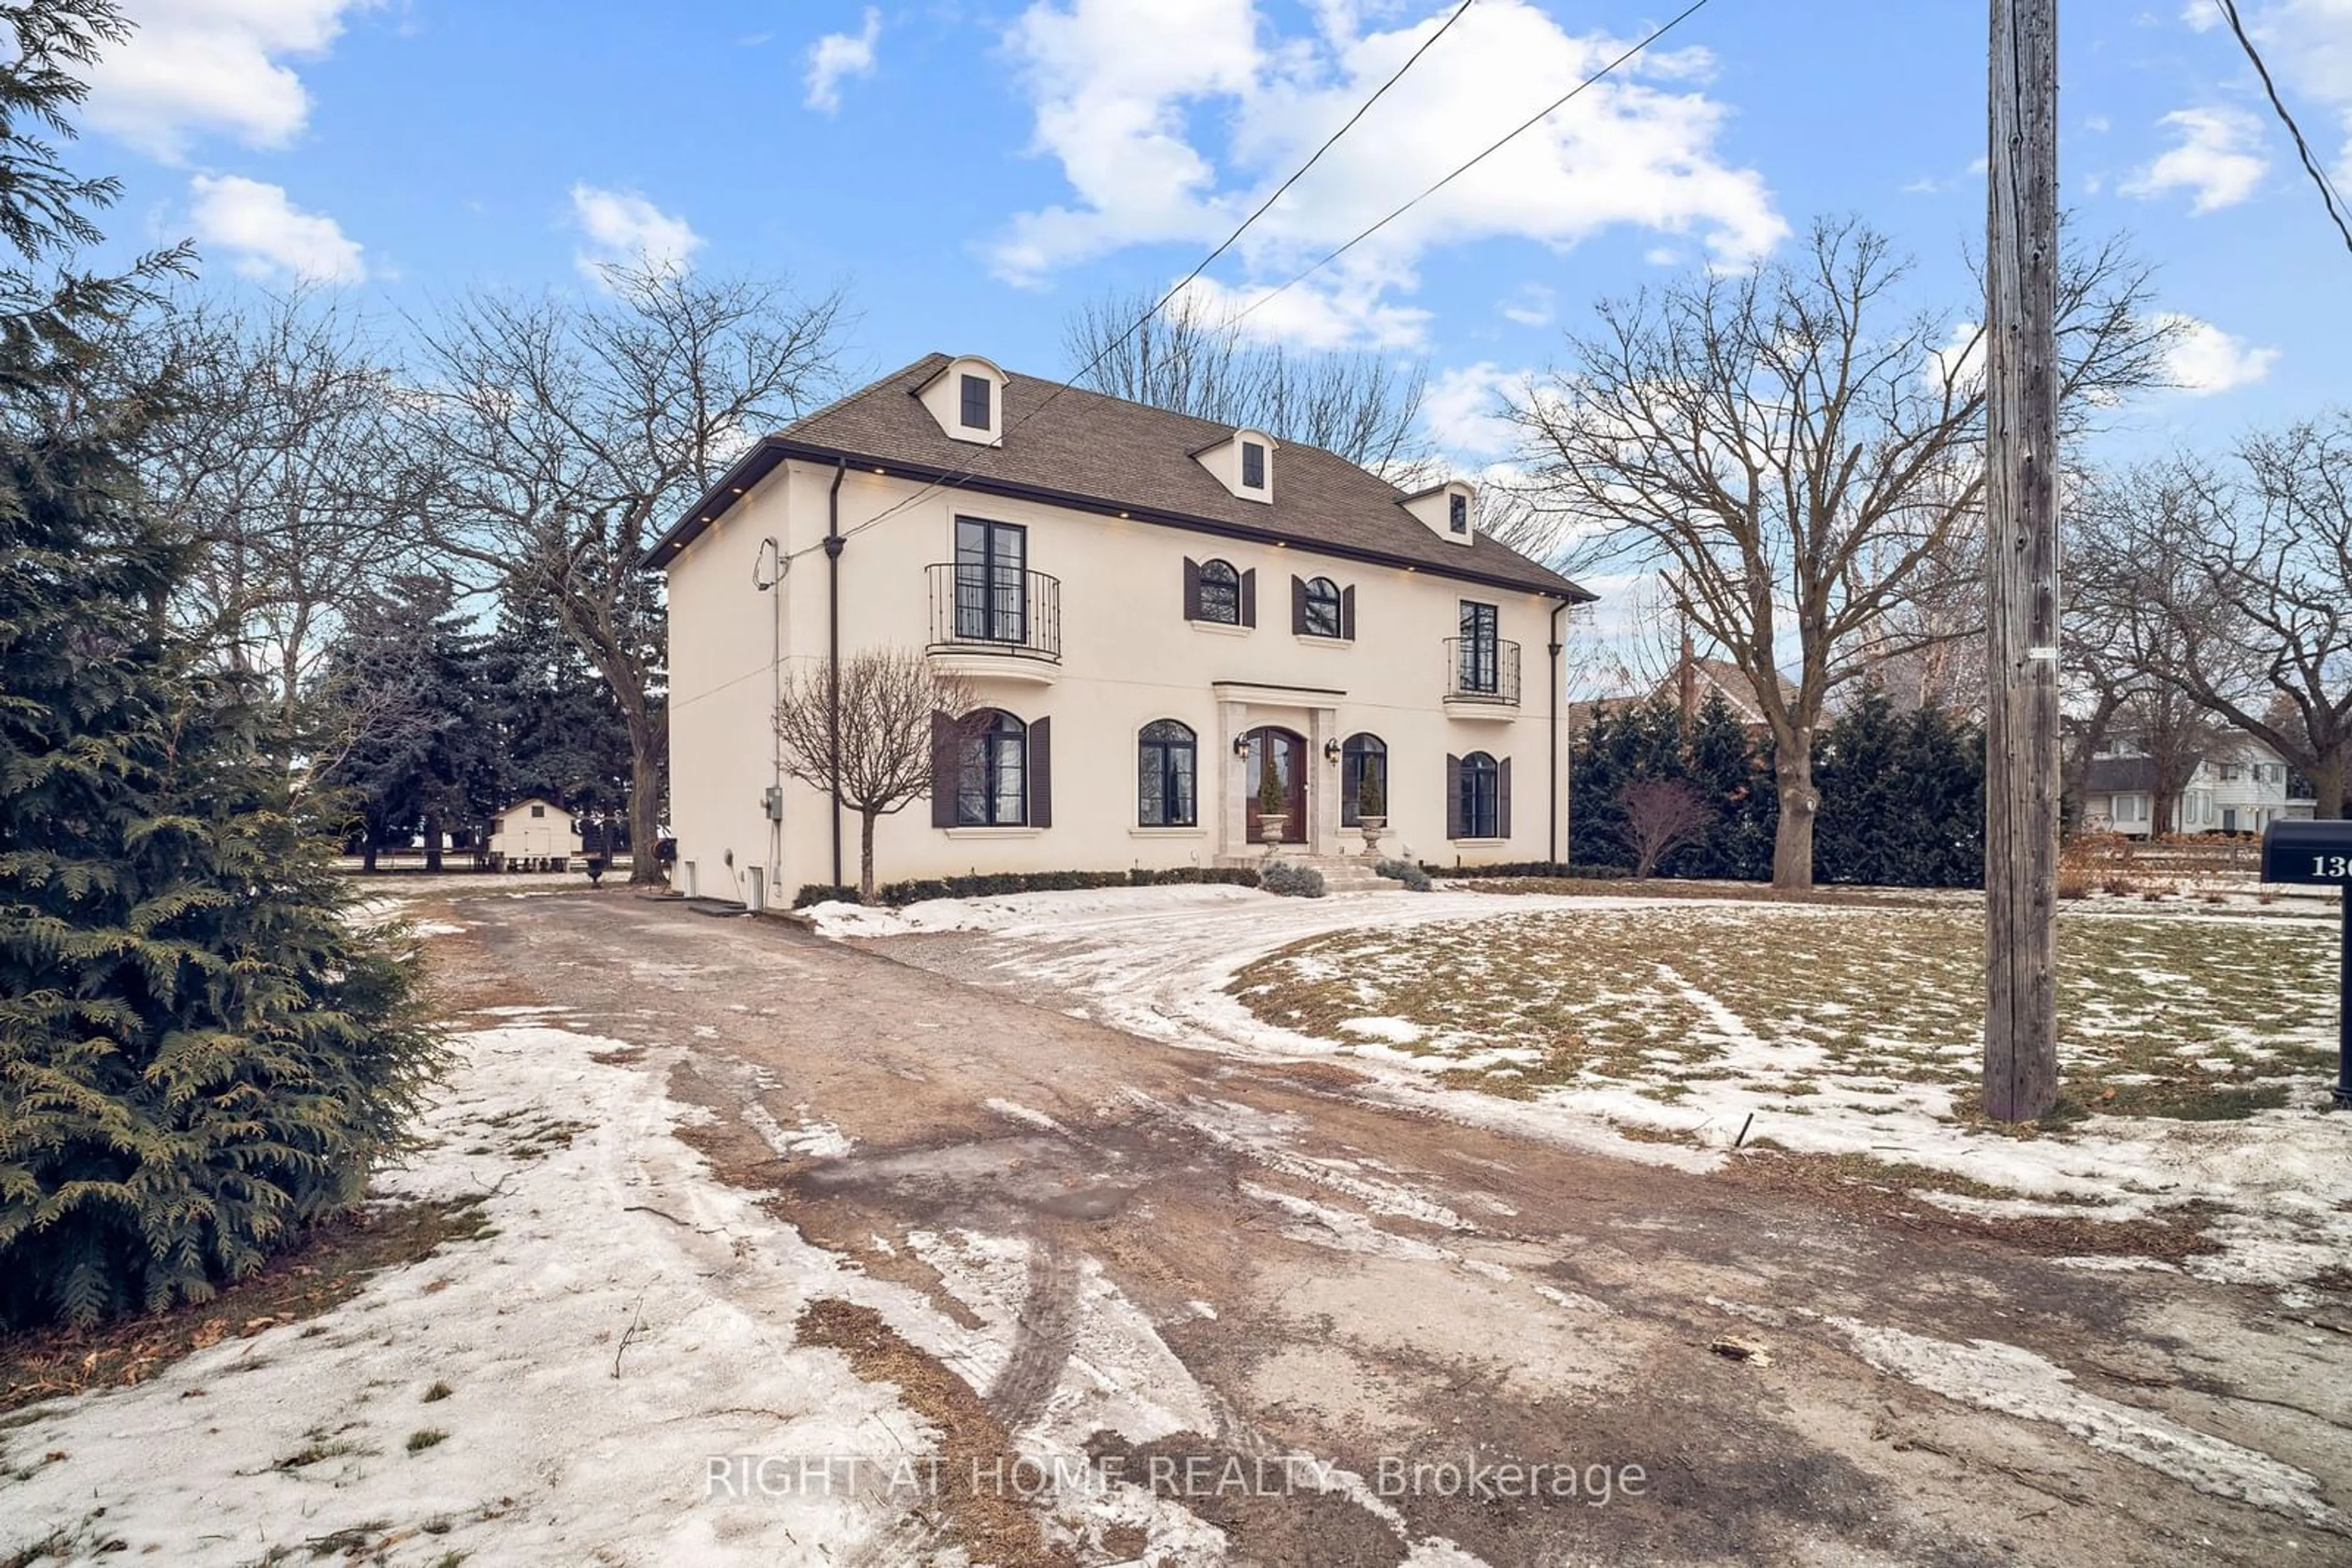
[{"label": "patchy snow-dusted grass lawn behind the utility pole", "polygon": [[[1780,1114],[1966,1119],[1983,922],[1969,910],[1693,905],[1357,929],[1284,947],[1232,994],[1357,1051],[1442,1058],[1529,1098],[1677,1103],[1736,1081]],[[2246,1117],[2326,1081],[2336,933],[2300,919],[2070,914],[2060,1072],[2072,1112]]]}]

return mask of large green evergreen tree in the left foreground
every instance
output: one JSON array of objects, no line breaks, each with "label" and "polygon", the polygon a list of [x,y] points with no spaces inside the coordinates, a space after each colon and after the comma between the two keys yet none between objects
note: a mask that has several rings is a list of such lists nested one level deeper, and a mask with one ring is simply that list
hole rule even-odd
[{"label": "large green evergreen tree in the left foreground", "polygon": [[0,1328],[200,1300],[360,1197],[437,1048],[341,919],[263,712],[165,607],[186,552],[141,503],[169,386],[103,348],[143,277],[42,268],[103,181],[66,127],[103,0],[0,9]]}]

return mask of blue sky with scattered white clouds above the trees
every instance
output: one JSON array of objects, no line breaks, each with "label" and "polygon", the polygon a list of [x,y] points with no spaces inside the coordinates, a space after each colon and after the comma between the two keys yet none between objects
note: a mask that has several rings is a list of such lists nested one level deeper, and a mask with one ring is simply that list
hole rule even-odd
[{"label": "blue sky with scattered white clouds above the trees", "polygon": [[[346,289],[386,320],[652,252],[840,287],[851,369],[931,348],[1058,374],[1061,322],[1160,289],[1454,0],[129,0],[75,160],[207,287]],[[1475,0],[1214,273],[1251,301],[1679,5]],[[2314,143],[2352,165],[2352,0],[2249,0]],[[2218,442],[2345,400],[2352,254],[2211,0],[2065,0],[2065,200],[2126,228],[2194,327],[2129,440]],[[1621,85],[1251,320],[1423,355],[1432,433],[1501,456],[1496,386],[1599,294],[1863,214],[1966,313],[1983,5],[1712,0]]]}]

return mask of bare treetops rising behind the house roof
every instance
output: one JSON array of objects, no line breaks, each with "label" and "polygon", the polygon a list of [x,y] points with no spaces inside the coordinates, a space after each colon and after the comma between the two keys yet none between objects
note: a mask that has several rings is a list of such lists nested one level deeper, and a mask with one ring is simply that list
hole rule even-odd
[{"label": "bare treetops rising behind the house roof", "polygon": [[1425,367],[1263,343],[1190,294],[1129,331],[1152,303],[1150,294],[1103,296],[1070,315],[1063,350],[1084,371],[1080,386],[1322,447],[1390,480],[1411,477],[1428,456],[1416,428]]}]

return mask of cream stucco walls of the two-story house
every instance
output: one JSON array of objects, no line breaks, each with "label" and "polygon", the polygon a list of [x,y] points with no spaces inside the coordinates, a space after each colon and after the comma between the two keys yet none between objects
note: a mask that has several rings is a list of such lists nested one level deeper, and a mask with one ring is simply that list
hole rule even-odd
[{"label": "cream stucco walls of the two-story house", "polygon": [[[821,665],[826,656],[823,534],[833,475],[830,465],[779,465],[670,564],[670,799],[677,879],[696,893],[748,898],[750,867],[760,867],[769,898],[788,900],[804,882],[833,879],[821,792],[786,780],[781,827],[762,811],[762,790],[776,778],[767,724],[771,637],[786,665]],[[962,668],[983,705],[1023,722],[1054,719],[1054,825],[938,830],[929,802],[915,802],[880,825],[880,879],[1256,858],[1263,851],[1242,842],[1249,783],[1232,741],[1258,724],[1308,738],[1310,853],[1362,853],[1357,830],[1338,825],[1341,769],[1322,755],[1324,741],[1355,731],[1388,743],[1383,853],[1435,863],[1550,853],[1552,599],[1028,501],[943,489],[917,498],[920,489],[858,470],[842,480],[840,517],[849,534],[840,557],[842,649],[929,642],[924,569],[955,559],[957,515],[1028,527],[1030,571],[1061,581],[1061,663],[997,658]],[[896,505],[903,510],[882,517]],[[861,527],[875,517],[882,520]],[[755,588],[764,538],[776,538],[788,557],[774,592]],[[1183,618],[1188,555],[1256,569],[1256,628]],[[1291,632],[1291,574],[1355,588],[1352,644]],[[1501,722],[1442,705],[1444,639],[1458,632],[1465,597],[1496,604],[1501,635],[1522,646],[1522,705]],[[1136,827],[1136,731],[1152,719],[1181,719],[1200,736],[1197,827]],[[1449,752],[1475,750],[1512,759],[1510,839],[1446,839],[1444,762]],[[856,882],[856,863],[858,823],[844,811],[847,882]]]}]

